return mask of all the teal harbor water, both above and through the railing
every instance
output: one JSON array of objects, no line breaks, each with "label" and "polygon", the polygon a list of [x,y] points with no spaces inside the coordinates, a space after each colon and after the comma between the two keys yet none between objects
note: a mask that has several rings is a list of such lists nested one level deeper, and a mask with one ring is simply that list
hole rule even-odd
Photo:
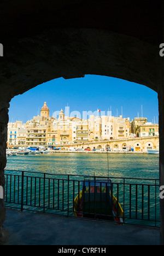
[{"label": "all the teal harbor water, both above and through the railing", "polygon": [[[149,222],[150,225],[157,226],[160,220],[159,155],[13,155],[7,158],[6,170],[15,170],[18,176],[21,175],[19,171],[28,172],[24,178],[24,205],[30,206],[28,209],[33,211],[42,207],[44,212],[62,212],[65,215],[69,212],[73,216],[74,197],[82,189],[81,181],[84,177],[108,177],[109,174],[113,182],[113,194],[119,199],[127,223],[148,225]],[[22,178],[12,177],[13,173],[10,171],[5,171],[5,175],[8,179],[7,202],[10,205],[21,198]]]}]

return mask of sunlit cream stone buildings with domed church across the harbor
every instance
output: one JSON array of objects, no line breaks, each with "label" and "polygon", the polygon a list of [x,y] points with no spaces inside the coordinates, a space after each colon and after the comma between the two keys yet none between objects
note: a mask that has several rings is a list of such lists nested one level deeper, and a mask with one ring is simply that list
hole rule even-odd
[{"label": "sunlit cream stone buildings with domed church across the harbor", "polygon": [[[97,111],[98,112],[98,111]],[[68,114],[68,112],[66,113]],[[147,118],[112,117],[90,115],[89,119],[69,117],[61,109],[58,118],[50,117],[50,109],[44,102],[40,115],[28,120],[8,124],[8,146],[55,146],[77,142],[103,141],[159,135],[159,126],[147,122]]]}]

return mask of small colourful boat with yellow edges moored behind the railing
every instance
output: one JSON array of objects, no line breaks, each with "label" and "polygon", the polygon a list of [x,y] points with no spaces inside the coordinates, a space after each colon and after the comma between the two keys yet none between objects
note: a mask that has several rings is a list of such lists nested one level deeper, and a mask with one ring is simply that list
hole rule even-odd
[{"label": "small colourful boat with yellow edges moored behind the railing", "polygon": [[102,219],[123,224],[124,211],[112,194],[112,181],[84,181],[83,190],[75,197],[74,216]]}]

